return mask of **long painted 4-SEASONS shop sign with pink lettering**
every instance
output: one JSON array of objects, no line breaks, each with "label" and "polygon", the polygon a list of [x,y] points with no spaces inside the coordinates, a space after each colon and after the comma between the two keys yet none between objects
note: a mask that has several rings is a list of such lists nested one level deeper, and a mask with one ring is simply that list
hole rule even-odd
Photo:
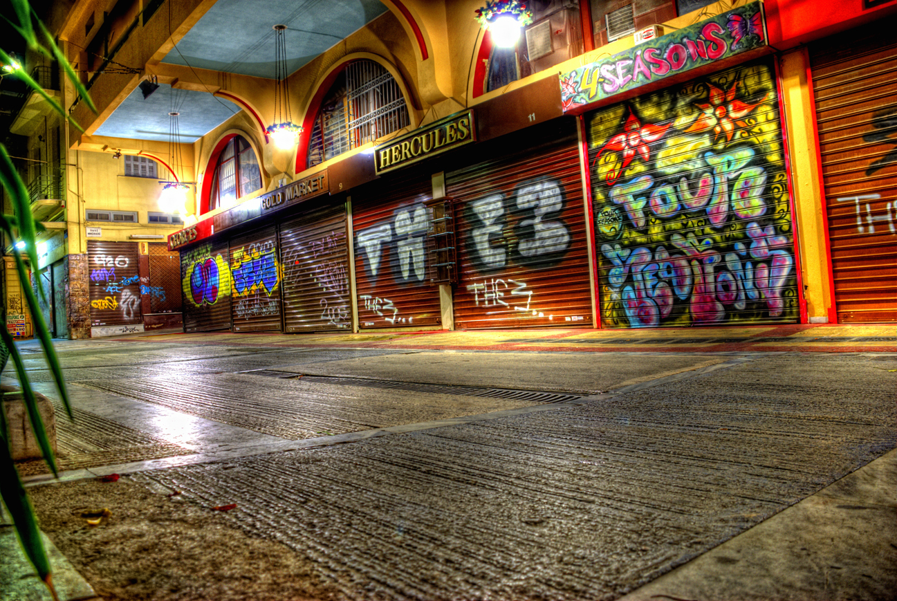
[{"label": "long painted 4-SEASONS shop sign with pink lettering", "polygon": [[762,3],[739,6],[613,57],[562,73],[563,111],[622,96],[648,83],[765,48],[766,40]]}]

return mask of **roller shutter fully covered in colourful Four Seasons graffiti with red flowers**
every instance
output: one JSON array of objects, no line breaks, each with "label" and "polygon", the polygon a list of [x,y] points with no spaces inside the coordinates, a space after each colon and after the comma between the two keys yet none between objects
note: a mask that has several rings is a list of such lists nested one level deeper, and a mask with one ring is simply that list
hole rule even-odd
[{"label": "roller shutter fully covered in colourful Four Seasons graffiti with red flowers", "polygon": [[599,109],[586,123],[604,327],[797,322],[771,63]]}]

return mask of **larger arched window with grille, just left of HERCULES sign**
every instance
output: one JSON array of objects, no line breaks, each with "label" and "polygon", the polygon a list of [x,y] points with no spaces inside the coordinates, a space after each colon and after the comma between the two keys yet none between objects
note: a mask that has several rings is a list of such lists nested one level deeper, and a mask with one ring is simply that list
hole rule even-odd
[{"label": "larger arched window with grille, just left of HERCULES sign", "polygon": [[396,79],[372,60],[345,66],[331,86],[311,130],[309,167],[409,125]]}]

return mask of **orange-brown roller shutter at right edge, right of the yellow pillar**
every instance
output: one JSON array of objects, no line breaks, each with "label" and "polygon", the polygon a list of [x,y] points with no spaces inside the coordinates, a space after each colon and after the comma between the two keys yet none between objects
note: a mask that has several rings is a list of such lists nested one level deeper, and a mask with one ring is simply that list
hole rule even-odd
[{"label": "orange-brown roller shutter at right edge, right of the yellow pillar", "polygon": [[897,321],[893,23],[825,39],[810,59],[838,321]]}]

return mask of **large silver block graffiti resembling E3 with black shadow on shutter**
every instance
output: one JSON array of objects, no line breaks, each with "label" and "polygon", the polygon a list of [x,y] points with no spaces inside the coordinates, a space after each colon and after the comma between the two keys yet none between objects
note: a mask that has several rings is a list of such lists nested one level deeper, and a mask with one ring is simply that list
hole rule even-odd
[{"label": "large silver block graffiti resembling E3 with black shadow on shutter", "polygon": [[563,187],[547,177],[530,179],[511,194],[496,192],[466,205],[469,257],[480,272],[511,265],[551,265],[567,253],[570,228],[561,218]]}]

